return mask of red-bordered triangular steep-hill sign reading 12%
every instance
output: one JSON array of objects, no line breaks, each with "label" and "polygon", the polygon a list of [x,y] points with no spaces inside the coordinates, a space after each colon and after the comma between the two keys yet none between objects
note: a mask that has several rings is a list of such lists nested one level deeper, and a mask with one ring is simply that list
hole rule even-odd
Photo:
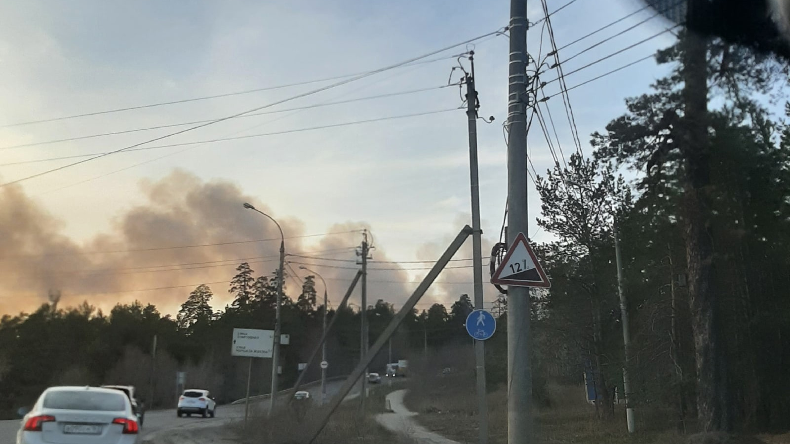
[{"label": "red-bordered triangular steep-hill sign reading 12%", "polygon": [[543,267],[540,266],[532,246],[529,246],[524,233],[518,233],[516,241],[510,250],[507,250],[505,258],[499,264],[499,268],[491,277],[491,284],[513,285],[515,287],[540,287],[549,288],[551,282],[548,281]]}]

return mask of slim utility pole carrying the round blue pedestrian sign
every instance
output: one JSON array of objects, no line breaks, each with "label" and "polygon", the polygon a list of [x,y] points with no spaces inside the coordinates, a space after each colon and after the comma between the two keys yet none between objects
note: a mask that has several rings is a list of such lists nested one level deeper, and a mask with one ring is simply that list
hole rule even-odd
[{"label": "slim utility pole carrying the round blue pedestrian sign", "polygon": [[[472,194],[472,270],[474,274],[474,295],[476,310],[483,310],[483,246],[480,229],[480,178],[477,167],[477,90],[475,89],[475,51],[469,51],[472,73],[467,73],[466,115],[469,130],[469,188]],[[488,442],[488,403],[486,397],[486,350],[485,341],[472,339],[475,347],[475,367],[477,375],[477,410],[480,424],[478,427],[480,444]]]}]

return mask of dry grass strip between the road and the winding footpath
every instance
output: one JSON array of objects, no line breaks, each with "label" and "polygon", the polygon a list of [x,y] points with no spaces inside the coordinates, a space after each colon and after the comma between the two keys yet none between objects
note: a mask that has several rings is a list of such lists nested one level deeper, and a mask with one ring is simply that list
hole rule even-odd
[{"label": "dry grass strip between the road and the winding footpath", "polygon": [[[408,437],[393,435],[374,419],[374,415],[386,411],[386,394],[402,386],[375,386],[367,398],[366,414],[360,412],[359,398],[346,401],[329,418],[329,422],[315,444],[413,444]],[[300,408],[303,410],[299,411]],[[318,404],[299,404],[292,402],[271,418],[257,412],[250,416],[247,431],[241,424],[235,424],[239,442],[255,444],[304,444],[319,426],[327,407]]]}]

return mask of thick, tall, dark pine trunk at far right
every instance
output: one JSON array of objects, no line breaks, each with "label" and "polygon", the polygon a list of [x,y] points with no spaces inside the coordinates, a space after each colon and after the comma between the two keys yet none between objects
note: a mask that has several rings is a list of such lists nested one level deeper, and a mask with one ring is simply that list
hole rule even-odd
[{"label": "thick, tall, dark pine trunk at far right", "polygon": [[713,239],[709,213],[707,42],[684,37],[684,119],[682,149],[686,160],[683,193],[684,230],[691,322],[697,367],[697,412],[702,432],[727,430],[724,416],[724,368],[717,335],[717,295],[713,292]]}]

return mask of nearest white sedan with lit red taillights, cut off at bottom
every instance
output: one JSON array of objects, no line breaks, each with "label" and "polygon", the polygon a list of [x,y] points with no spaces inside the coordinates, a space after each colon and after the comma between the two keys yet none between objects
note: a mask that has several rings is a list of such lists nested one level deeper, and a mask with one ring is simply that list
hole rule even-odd
[{"label": "nearest white sedan with lit red taillights, cut off at bottom", "polygon": [[50,387],[22,418],[17,444],[135,444],[129,397],[100,387]]}]

